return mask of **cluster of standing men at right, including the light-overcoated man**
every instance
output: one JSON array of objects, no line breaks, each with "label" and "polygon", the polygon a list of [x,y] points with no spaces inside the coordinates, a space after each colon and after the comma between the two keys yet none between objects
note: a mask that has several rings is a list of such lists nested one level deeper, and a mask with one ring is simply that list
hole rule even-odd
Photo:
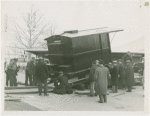
[{"label": "cluster of standing men at right, including the light-overcoated man", "polygon": [[130,52],[123,57],[123,60],[109,62],[108,65],[104,65],[103,60],[93,61],[90,69],[90,95],[99,95],[100,103],[107,102],[109,77],[111,77],[111,93],[117,93],[118,88],[127,88],[127,92],[132,92],[134,71]]}]

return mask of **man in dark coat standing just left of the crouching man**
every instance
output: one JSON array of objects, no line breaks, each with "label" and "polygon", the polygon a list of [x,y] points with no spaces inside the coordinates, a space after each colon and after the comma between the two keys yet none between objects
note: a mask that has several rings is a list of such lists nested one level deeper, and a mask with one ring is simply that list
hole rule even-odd
[{"label": "man in dark coat standing just left of the crouching man", "polygon": [[39,62],[35,67],[35,76],[36,80],[38,81],[39,95],[42,95],[42,84],[44,84],[44,96],[48,96],[47,78],[49,76],[49,71],[42,58],[39,59]]}]

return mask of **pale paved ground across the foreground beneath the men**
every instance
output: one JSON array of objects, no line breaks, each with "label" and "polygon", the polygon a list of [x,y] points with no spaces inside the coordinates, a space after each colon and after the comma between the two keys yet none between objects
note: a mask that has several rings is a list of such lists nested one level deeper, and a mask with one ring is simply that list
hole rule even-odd
[{"label": "pale paved ground across the foreground beneath the men", "polygon": [[[29,91],[37,91],[36,88]],[[7,91],[7,90],[6,90]],[[12,91],[28,91],[12,90]],[[77,90],[75,90],[77,91]],[[98,103],[97,97],[88,96],[89,91],[80,91],[81,94],[57,95],[49,93],[49,96],[38,96],[38,93],[7,94],[5,97],[5,110],[42,110],[42,111],[143,111],[144,97],[141,87],[136,87],[132,93],[119,90],[118,93],[110,93],[107,103]],[[110,91],[110,90],[108,90]],[[10,90],[9,90],[10,92]],[[78,91],[79,92],[79,91]],[[11,100],[11,101],[10,101]],[[16,102],[17,101],[17,102]],[[9,105],[10,104],[10,105]]]}]

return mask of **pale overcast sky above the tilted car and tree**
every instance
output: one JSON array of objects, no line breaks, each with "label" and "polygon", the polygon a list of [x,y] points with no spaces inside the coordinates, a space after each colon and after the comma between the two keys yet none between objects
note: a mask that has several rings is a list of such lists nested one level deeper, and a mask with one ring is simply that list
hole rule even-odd
[{"label": "pale overcast sky above the tilted car and tree", "polygon": [[[14,23],[22,24],[21,14],[26,13],[34,5],[39,9],[45,22],[51,21],[60,32],[65,30],[82,30],[100,27],[124,29],[118,32],[112,48],[147,37],[148,34],[148,7],[144,2],[123,1],[93,1],[93,2],[2,2],[2,19],[8,15],[8,29],[6,40],[14,42]],[[2,23],[4,27],[4,23]],[[147,31],[147,32],[146,32]],[[110,40],[114,33],[110,34]],[[44,39],[44,38],[43,38]]]}]

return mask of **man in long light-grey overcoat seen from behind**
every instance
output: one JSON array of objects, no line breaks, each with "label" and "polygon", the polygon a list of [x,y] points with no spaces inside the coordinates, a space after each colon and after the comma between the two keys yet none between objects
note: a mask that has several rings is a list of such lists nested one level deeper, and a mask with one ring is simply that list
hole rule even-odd
[{"label": "man in long light-grey overcoat seen from behind", "polygon": [[107,86],[109,78],[109,70],[104,67],[103,63],[103,60],[99,60],[99,65],[94,74],[96,93],[99,95],[100,103],[107,102]]}]

